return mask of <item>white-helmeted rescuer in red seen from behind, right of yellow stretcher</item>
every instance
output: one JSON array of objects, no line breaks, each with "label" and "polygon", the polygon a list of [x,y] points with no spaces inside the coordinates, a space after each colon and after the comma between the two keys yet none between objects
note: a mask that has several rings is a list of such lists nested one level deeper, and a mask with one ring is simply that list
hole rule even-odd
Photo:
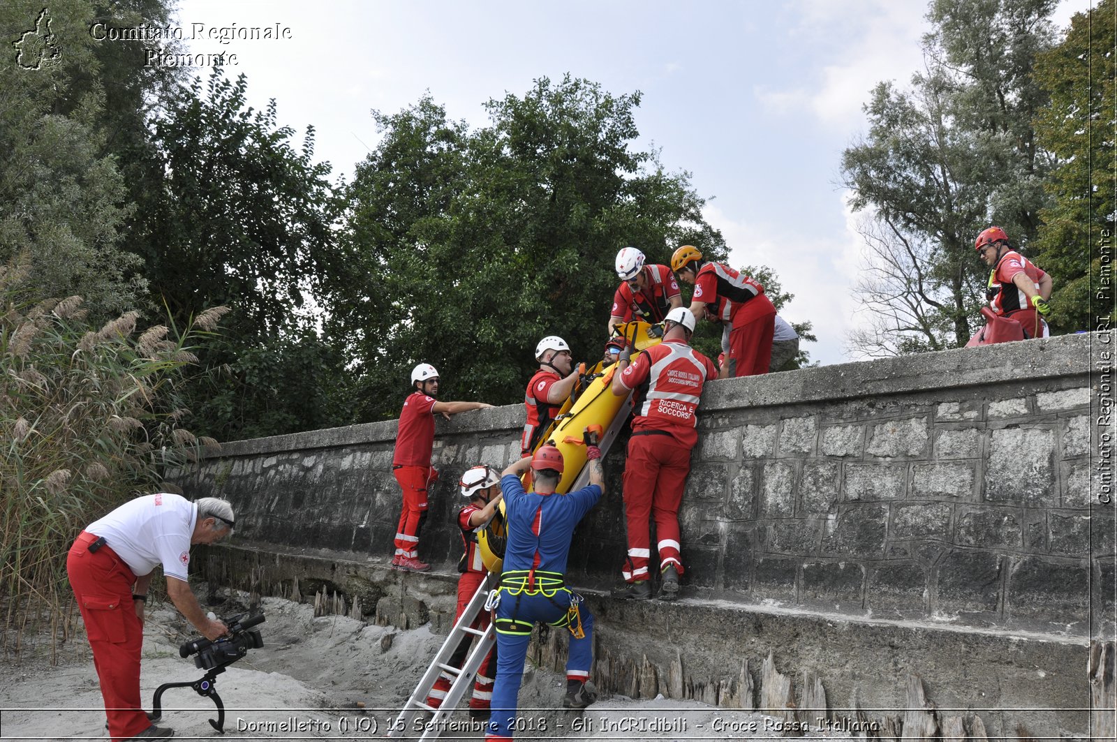
[{"label": "white-helmeted rescuer in red seen from behind, right of yellow stretcher", "polygon": [[678,597],[682,573],[678,513],[690,472],[690,449],[698,443],[695,413],[703,386],[717,377],[714,362],[689,345],[695,329],[689,310],[671,310],[663,325],[663,342],[643,351],[636,363],[630,365],[631,350],[621,354],[612,381],[618,397],[636,392],[623,478],[628,560],[621,573],[626,586],[613,591],[619,598],[651,598],[649,516],[656,521],[662,574],[659,597]]}]

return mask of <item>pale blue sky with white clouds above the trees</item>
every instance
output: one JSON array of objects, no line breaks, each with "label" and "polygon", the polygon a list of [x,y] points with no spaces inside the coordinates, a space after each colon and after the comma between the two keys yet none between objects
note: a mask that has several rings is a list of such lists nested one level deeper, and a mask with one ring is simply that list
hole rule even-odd
[{"label": "pale blue sky with white clouds above the trees", "polygon": [[[1090,4],[1062,0],[1054,20],[1065,28]],[[193,23],[290,28],[278,41],[188,47],[235,53],[229,72],[248,76],[250,102],[276,98],[281,123],[313,124],[316,156],[346,179],[376,145],[370,110],[399,111],[426,91],[472,125],[487,122],[485,101],[543,76],[640,91],[637,145],[693,174],[731,264],[775,269],[795,295],[783,316],[814,323],[811,356],[830,364],[853,360],[844,339],[859,323],[861,246],[837,184],[841,152],[865,132],[868,91],[920,68],[925,12],[919,0],[180,0],[179,21],[188,36]]]}]

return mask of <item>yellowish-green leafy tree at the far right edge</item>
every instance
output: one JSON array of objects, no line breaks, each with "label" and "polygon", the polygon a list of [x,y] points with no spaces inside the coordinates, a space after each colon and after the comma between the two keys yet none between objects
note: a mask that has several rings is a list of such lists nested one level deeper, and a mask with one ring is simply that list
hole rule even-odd
[{"label": "yellowish-green leafy tree at the far right edge", "polygon": [[1059,165],[1046,183],[1051,206],[1041,212],[1044,223],[1033,247],[1037,263],[1054,282],[1050,322],[1058,332],[1092,329],[1095,314],[1113,312],[1111,306],[1091,312],[1090,276],[1097,284],[1101,270],[1100,258],[1091,260],[1091,246],[1100,242],[1102,230],[1111,245],[1117,228],[1114,13],[1114,0],[1076,13],[1062,41],[1035,65],[1035,79],[1051,96],[1035,117],[1037,139]]}]

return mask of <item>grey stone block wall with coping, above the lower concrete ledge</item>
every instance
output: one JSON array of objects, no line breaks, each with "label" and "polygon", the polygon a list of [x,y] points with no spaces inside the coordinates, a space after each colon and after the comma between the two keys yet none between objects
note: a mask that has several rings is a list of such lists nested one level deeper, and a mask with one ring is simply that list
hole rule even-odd
[{"label": "grey stone block wall with coping, above the lower concrete ledge", "polygon": [[[1072,335],[710,383],[680,511],[685,591],[1086,636],[1091,618],[1113,615],[1113,510],[1092,494],[1090,458],[1099,343]],[[456,561],[458,476],[517,457],[523,415],[437,422],[442,476],[423,559]],[[231,500],[238,538],[386,560],[394,436],[391,421],[237,441],[178,479]],[[623,465],[620,440],[609,492],[575,534],[574,583],[618,579]]]}]

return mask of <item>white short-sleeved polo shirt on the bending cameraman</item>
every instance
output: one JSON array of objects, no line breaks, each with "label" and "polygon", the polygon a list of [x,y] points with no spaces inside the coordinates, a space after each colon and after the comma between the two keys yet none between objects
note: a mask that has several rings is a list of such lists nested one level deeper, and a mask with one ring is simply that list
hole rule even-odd
[{"label": "white short-sleeved polo shirt on the bending cameraman", "polygon": [[163,564],[163,574],[187,581],[190,538],[198,506],[181,495],[159,493],[136,497],[86,526],[105,536],[105,543],[136,577]]}]

